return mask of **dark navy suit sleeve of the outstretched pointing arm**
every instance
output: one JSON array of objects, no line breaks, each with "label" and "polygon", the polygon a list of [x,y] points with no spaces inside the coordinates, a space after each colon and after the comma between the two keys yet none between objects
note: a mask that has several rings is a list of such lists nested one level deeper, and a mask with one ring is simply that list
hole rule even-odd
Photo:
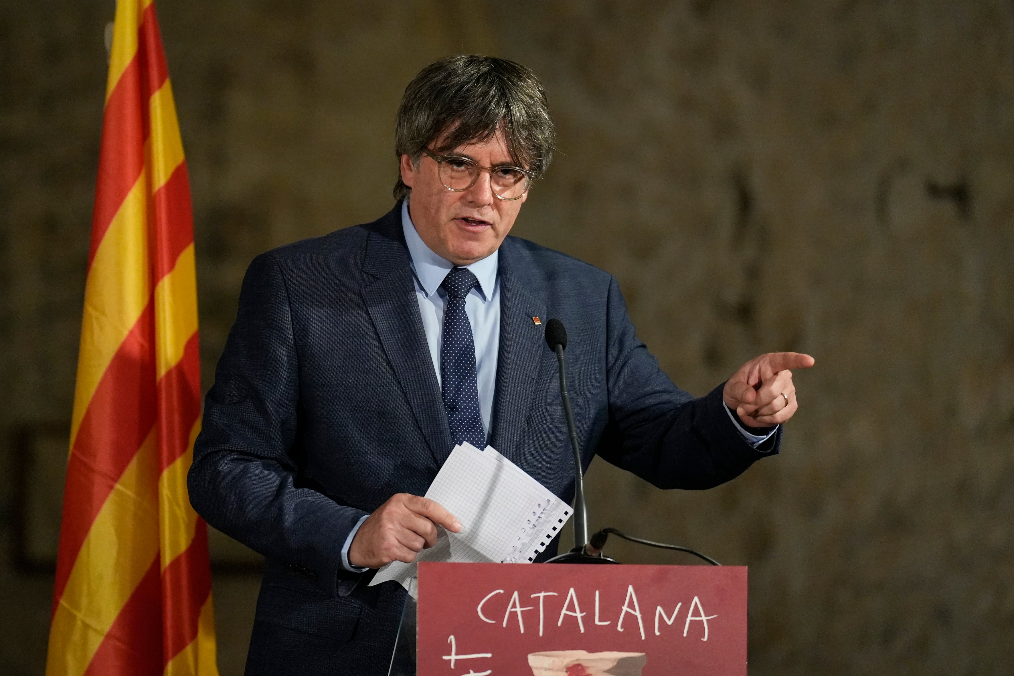
[{"label": "dark navy suit sleeve of the outstretched pointing arm", "polygon": [[729,420],[724,383],[695,398],[672,384],[634,331],[614,279],[606,300],[609,416],[597,452],[660,489],[710,489],[778,452],[782,430],[753,448]]}]

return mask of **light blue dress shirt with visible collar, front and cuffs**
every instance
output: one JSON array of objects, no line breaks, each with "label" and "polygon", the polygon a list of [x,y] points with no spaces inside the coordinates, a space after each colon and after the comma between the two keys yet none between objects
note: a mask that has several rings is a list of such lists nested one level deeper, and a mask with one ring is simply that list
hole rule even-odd
[{"label": "light blue dress shirt with visible collar, front and cuffs", "polygon": [[[423,238],[416,232],[416,226],[409,215],[409,201],[402,202],[402,230],[405,233],[405,243],[409,247],[409,265],[416,283],[416,300],[419,303],[419,313],[423,318],[423,329],[426,331],[426,343],[430,348],[430,358],[433,360],[433,371],[440,382],[440,343],[443,340],[443,315],[447,305],[447,292],[440,284],[447,273],[454,267],[434,253]],[[464,298],[464,312],[472,324],[472,336],[476,342],[476,375],[479,381],[479,410],[483,418],[483,430],[487,438],[493,426],[493,394],[497,379],[497,357],[500,353],[500,251],[494,251],[482,260],[465,266],[479,280],[479,286],[468,292]],[[765,442],[778,428],[764,436],[750,434],[728,406],[725,408],[729,420],[736,426],[743,438],[754,448]],[[342,565],[349,571],[361,573],[364,568],[349,564],[349,547],[366,520],[364,516],[352,529],[342,547]]]}]

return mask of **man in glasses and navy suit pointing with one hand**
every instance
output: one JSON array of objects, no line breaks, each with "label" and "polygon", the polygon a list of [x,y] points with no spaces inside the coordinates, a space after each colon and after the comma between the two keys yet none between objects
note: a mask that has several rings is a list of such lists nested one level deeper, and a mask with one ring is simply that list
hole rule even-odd
[{"label": "man in glasses and navy suit pointing with one hand", "polygon": [[706,489],[778,452],[790,369],[811,358],[764,355],[695,398],[610,275],[508,236],[552,145],[529,70],[441,60],[399,110],[394,208],[250,264],[189,476],[197,511],[265,555],[247,674],[386,673],[405,592],[367,583],[460,528],[421,497],[454,444],[488,443],[573,498],[550,317],[570,336],[585,467],[597,453]]}]

